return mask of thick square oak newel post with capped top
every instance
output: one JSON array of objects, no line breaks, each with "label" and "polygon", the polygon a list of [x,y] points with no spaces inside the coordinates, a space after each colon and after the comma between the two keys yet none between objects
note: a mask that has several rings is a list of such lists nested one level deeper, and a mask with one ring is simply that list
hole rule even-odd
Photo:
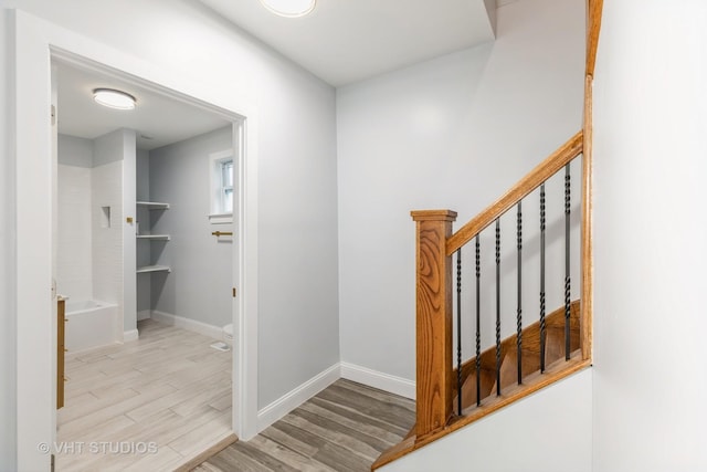
[{"label": "thick square oak newel post with capped top", "polygon": [[456,212],[411,212],[416,222],[416,409],[418,439],[444,428],[452,417],[452,258],[446,240]]}]

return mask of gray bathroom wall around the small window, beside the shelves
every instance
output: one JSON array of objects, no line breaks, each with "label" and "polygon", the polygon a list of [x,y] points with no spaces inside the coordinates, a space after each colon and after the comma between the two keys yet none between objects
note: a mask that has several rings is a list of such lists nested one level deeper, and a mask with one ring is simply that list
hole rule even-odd
[{"label": "gray bathroom wall around the small window, beside the shelves", "polygon": [[[150,151],[150,201],[169,210],[150,211],[151,232],[169,234],[168,242],[150,244],[152,263],[169,265],[169,274],[151,279],[151,310],[211,326],[232,319],[232,238],[212,231],[233,231],[233,224],[210,224],[211,172],[209,155],[233,148],[231,125]],[[238,179],[235,180],[238,181]],[[148,231],[148,222],[140,223]],[[238,231],[236,231],[238,238]]]}]

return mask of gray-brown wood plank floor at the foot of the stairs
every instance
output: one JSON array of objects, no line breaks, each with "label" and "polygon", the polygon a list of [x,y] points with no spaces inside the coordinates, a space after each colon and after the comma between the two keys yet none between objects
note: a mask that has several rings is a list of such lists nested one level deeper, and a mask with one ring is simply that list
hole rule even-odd
[{"label": "gray-brown wood plank floor at the foot of the stairs", "polygon": [[414,401],[337,380],[253,440],[214,454],[194,472],[368,472],[414,423]]}]

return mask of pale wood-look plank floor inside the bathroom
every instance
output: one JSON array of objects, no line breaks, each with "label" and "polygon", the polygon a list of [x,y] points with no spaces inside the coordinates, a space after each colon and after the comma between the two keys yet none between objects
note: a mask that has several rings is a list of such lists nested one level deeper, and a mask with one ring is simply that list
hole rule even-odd
[{"label": "pale wood-look plank floor inside the bathroom", "polygon": [[231,353],[151,319],[138,340],[66,356],[56,470],[171,471],[231,434]]}]

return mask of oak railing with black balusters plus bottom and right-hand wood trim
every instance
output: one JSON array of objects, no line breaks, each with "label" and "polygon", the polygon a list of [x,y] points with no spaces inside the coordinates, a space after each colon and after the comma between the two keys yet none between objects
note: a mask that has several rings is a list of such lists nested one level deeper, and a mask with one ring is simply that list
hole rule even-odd
[{"label": "oak railing with black balusters plus bottom and right-hand wood trim", "polygon": [[[595,56],[599,43],[599,32],[601,29],[601,17],[603,9],[603,0],[587,0],[587,56],[585,56],[585,81],[584,81],[584,114],[582,130],[572,136],[556,153],[537,166],[528,176],[523,178],[506,195],[498,199],[494,204],[479,213],[462,227],[456,233],[452,233],[452,223],[456,220],[456,212],[451,210],[428,210],[413,211],[412,218],[416,223],[416,423],[405,439],[393,448],[383,452],[378,460],[371,465],[371,470],[394,461],[418,448],[421,448],[443,436],[455,431],[465,424],[475,421],[498,408],[516,401],[538,389],[559,380],[585,366],[591,365],[592,353],[592,95],[593,95],[593,76]],[[545,182],[562,168],[566,168],[566,220],[564,233],[568,241],[569,216],[568,211],[568,187],[569,187],[569,165],[579,155],[581,159],[581,222],[580,222],[580,301],[571,302],[569,296],[569,243],[566,242],[566,280],[564,280],[564,307],[561,313],[564,318],[564,365],[556,373],[540,374],[540,378],[536,376],[529,385],[520,384],[527,380],[524,377],[523,366],[523,337],[526,329],[528,334],[538,338],[540,346],[540,370],[546,369],[544,350],[545,336],[544,331],[547,328],[548,319],[542,316],[539,323],[528,328],[523,328],[521,321],[521,287],[523,271],[520,269],[523,262],[523,199],[529,193],[540,188],[540,219],[541,227],[545,227]],[[496,292],[496,347],[481,350],[481,333],[479,323],[479,233],[496,223],[495,242],[496,242],[496,290],[500,285],[499,277],[499,219],[511,208],[517,208],[517,279],[518,279],[518,305],[517,305],[517,332],[515,337],[508,338],[516,345],[517,353],[517,384],[518,387],[510,394],[500,395],[502,381],[499,373],[499,354],[504,348],[509,349],[508,343],[499,340],[498,321],[500,317],[498,306],[499,292]],[[540,259],[545,255],[545,231],[540,230]],[[475,357],[469,361],[462,364],[462,248],[469,241],[474,240],[475,251],[475,277],[476,277],[476,333],[475,333]],[[456,368],[452,366],[453,349],[453,314],[455,308],[452,305],[453,292],[453,258],[456,254]],[[542,264],[542,263],[541,263]],[[540,279],[544,279],[544,270],[541,269]],[[541,282],[542,284],[542,282]],[[545,287],[540,287],[540,313],[545,312]],[[560,312],[560,311],[558,311]],[[550,321],[556,319],[552,313]],[[577,344],[579,344],[579,354],[572,350],[573,339],[570,339],[568,331],[570,325],[579,323],[579,335]],[[555,323],[555,322],[552,322]],[[534,331],[535,329],[535,331]],[[508,340],[507,339],[507,340]],[[492,352],[494,350],[494,352]],[[496,370],[496,400],[493,405],[484,408],[482,406],[481,382],[478,380],[482,365],[488,358],[488,355],[495,357]],[[571,358],[571,359],[570,359]],[[569,359],[569,360],[568,360]],[[469,371],[476,371],[476,389],[475,399],[476,408],[471,412],[463,408],[463,384],[469,375]],[[532,377],[531,375],[530,377]],[[456,396],[456,410],[454,413],[453,400]],[[481,407],[481,408],[479,408]],[[468,409],[467,409],[468,410]]]}]

